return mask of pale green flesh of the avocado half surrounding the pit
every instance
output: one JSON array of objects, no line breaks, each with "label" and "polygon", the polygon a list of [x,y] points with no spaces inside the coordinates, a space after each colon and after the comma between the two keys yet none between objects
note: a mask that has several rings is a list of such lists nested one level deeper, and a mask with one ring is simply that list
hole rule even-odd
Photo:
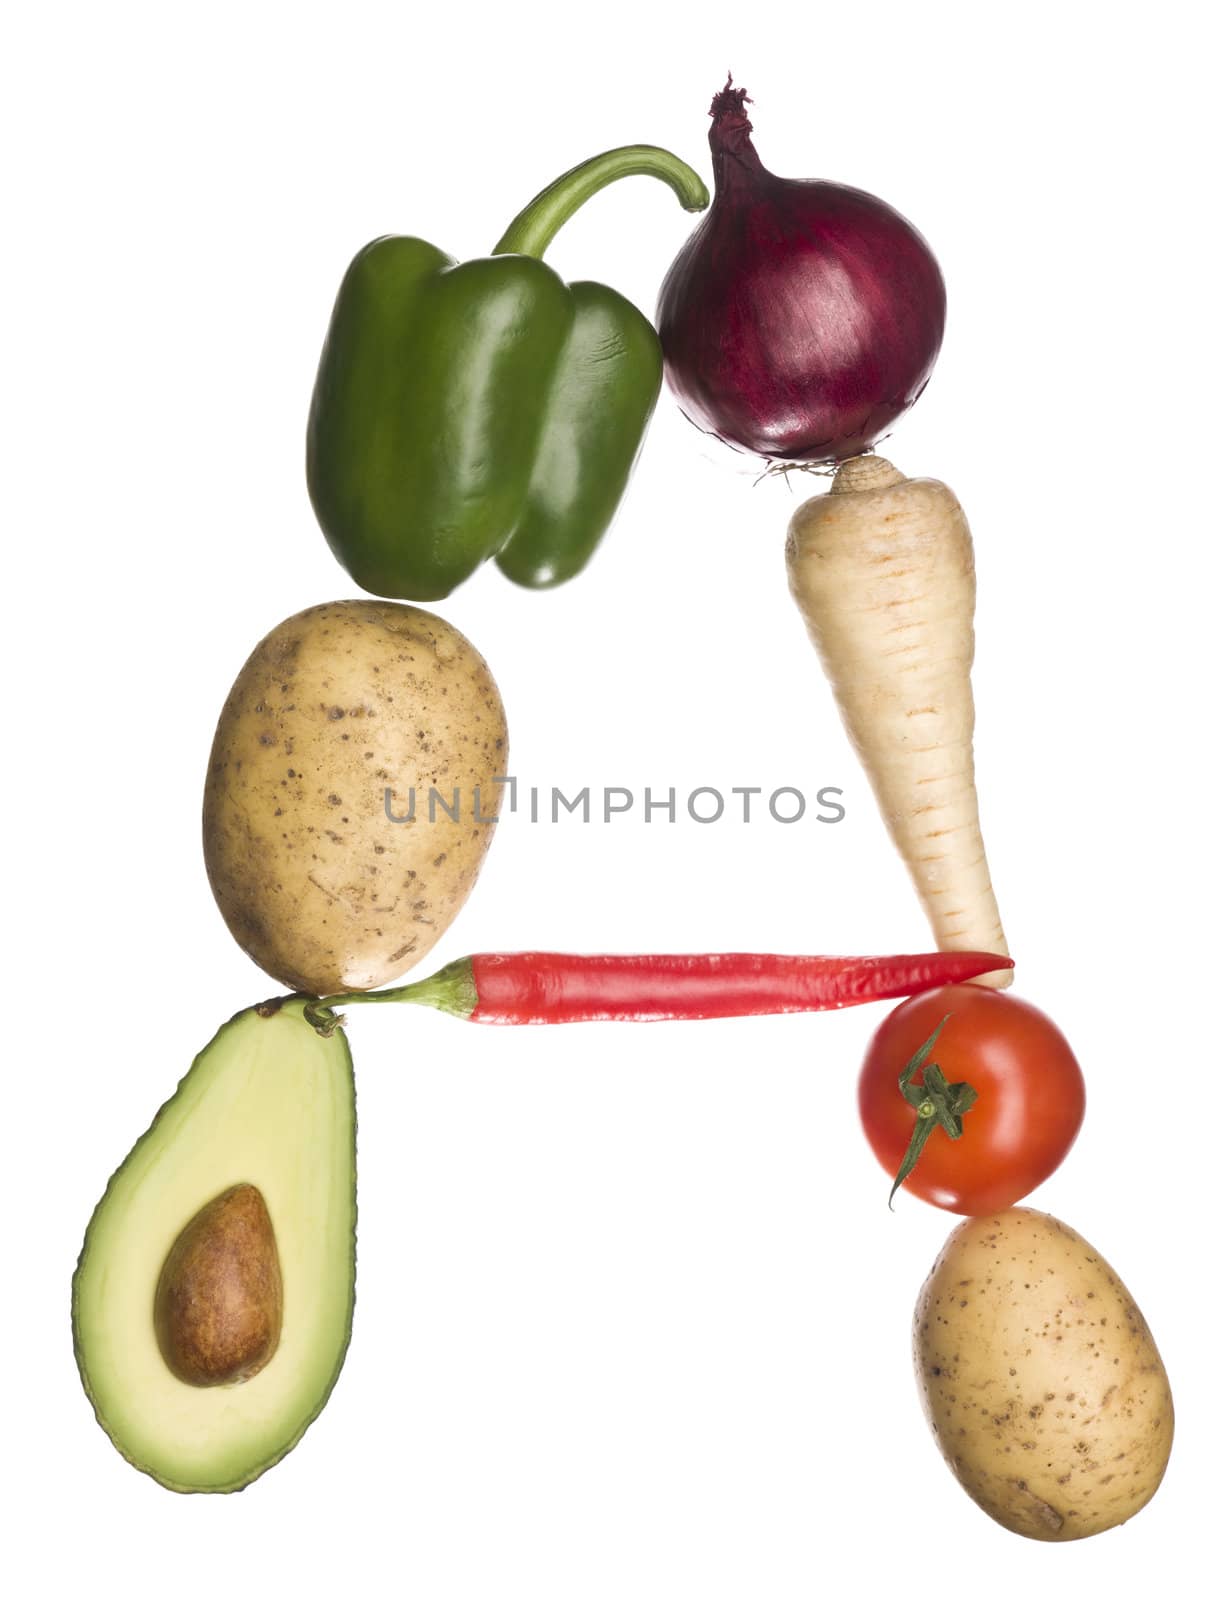
[{"label": "pale green flesh of the avocado half surrounding the pit", "polygon": [[[166,1488],[238,1490],[296,1445],[339,1376],[355,1296],[355,1088],[342,1030],[301,1000],[242,1011],[197,1056],[110,1179],[72,1282],[77,1363],[98,1421]],[[267,1205],[283,1277],[275,1355],[195,1389],[165,1365],[154,1296],[170,1246],[234,1184]]]}]

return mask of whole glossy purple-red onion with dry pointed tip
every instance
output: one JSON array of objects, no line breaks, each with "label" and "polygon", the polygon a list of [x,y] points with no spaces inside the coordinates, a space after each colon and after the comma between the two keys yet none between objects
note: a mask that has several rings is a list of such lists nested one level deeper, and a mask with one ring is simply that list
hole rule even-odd
[{"label": "whole glossy purple-red onion with dry pointed tip", "polygon": [[658,331],[687,416],[779,461],[842,461],[928,382],[946,285],[920,234],[843,184],[773,176],[746,91],[712,101],[712,208],[666,275]]}]

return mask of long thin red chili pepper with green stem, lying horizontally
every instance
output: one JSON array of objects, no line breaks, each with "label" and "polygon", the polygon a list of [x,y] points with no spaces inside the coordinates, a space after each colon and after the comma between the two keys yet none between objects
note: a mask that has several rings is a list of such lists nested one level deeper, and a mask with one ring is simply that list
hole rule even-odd
[{"label": "long thin red chili pepper with green stem, lying horizontally", "polygon": [[[469,1022],[658,1022],[834,1011],[962,984],[1013,966],[979,950],[928,955],[469,955],[400,989],[331,995],[307,1008],[334,1026],[336,1005],[414,1002]],[[323,1014],[325,1013],[325,1014]]]}]

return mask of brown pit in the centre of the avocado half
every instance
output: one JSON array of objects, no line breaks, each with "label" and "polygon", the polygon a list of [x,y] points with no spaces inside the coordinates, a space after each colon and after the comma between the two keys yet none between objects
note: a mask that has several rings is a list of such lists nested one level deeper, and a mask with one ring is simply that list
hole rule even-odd
[{"label": "brown pit in the centre of the avocado half", "polygon": [[254,1184],[234,1184],[186,1224],[165,1258],[154,1328],[174,1378],[238,1384],[275,1355],[283,1283],[275,1230]]}]

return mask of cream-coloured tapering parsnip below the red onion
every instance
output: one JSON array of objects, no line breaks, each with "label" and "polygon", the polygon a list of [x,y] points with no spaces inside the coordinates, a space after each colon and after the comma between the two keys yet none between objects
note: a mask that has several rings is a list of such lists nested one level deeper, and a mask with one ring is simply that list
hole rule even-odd
[{"label": "cream-coloured tapering parsnip below the red onion", "polygon": [[787,565],[938,947],[1007,954],[975,792],[975,557],[962,506],[935,478],[856,456],[794,514]]}]

